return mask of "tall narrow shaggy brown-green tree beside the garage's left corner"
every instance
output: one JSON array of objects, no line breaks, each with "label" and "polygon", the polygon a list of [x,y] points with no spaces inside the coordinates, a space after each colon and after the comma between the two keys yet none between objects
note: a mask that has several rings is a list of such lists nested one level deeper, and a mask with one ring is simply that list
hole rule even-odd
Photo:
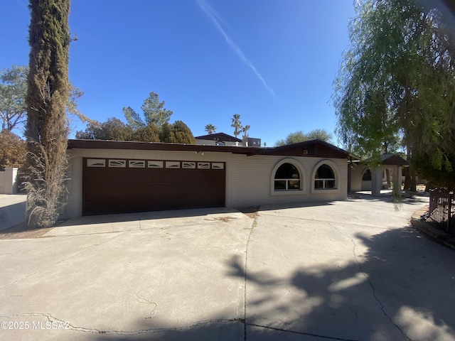
[{"label": "tall narrow shaggy brown-green tree beside the garage's left corner", "polygon": [[63,205],[68,166],[68,59],[70,0],[30,0],[31,46],[26,95],[28,182],[31,227],[50,227]]}]

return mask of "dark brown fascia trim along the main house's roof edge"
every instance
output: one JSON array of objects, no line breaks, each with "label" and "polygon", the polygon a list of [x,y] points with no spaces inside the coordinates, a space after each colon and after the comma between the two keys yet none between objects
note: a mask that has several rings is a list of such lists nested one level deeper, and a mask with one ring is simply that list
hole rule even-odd
[{"label": "dark brown fascia trim along the main house's roof edge", "polygon": [[[304,147],[309,144],[323,144],[340,154],[340,158],[349,158],[351,155],[337,146],[328,144],[321,140],[311,140],[300,142],[299,144],[289,144],[281,147],[244,147],[244,146],[213,146],[204,144],[164,144],[161,142],[136,142],[136,141],[105,141],[105,140],[68,140],[68,149],[87,148],[87,149],[137,149],[146,151],[213,151],[218,153],[234,153],[247,156],[255,155],[275,155],[295,147]],[[288,156],[283,153],[283,156]],[[296,155],[304,156],[304,155]]]}]

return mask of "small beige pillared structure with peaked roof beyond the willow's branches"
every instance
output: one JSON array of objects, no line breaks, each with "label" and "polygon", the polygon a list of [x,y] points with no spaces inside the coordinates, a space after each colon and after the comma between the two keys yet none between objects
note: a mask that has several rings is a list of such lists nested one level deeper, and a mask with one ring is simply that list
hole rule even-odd
[{"label": "small beige pillared structure with peaked roof beyond the willow's branches", "polygon": [[351,192],[368,190],[373,195],[378,195],[381,189],[388,188],[387,180],[390,180],[390,183],[394,183],[394,180],[396,180],[401,185],[402,166],[408,166],[409,164],[404,158],[395,154],[381,155],[380,164],[372,169],[368,166],[367,161],[351,163],[349,168],[349,190]]}]

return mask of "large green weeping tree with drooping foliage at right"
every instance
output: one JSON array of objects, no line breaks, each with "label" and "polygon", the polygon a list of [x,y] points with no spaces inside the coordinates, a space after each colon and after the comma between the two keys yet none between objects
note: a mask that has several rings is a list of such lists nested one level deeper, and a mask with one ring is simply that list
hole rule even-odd
[{"label": "large green weeping tree with drooping foliage at right", "polygon": [[455,188],[455,40],[436,4],[355,1],[333,103],[353,152],[374,159],[402,144],[422,178]]}]

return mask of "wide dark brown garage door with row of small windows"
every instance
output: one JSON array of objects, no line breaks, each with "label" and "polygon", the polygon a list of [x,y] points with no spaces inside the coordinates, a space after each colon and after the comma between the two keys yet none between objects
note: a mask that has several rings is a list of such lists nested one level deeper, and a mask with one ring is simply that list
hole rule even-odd
[{"label": "wide dark brown garage door with row of small windows", "polygon": [[225,205],[225,163],[84,158],[82,215]]}]

